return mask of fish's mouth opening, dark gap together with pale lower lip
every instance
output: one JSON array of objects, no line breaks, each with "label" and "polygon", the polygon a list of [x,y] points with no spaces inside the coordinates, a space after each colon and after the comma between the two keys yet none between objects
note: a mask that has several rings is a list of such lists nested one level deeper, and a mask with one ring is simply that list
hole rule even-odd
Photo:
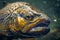
[{"label": "fish's mouth opening, dark gap together with pale lower lip", "polygon": [[30,32],[38,32],[43,31],[44,29],[49,29],[48,25],[50,24],[50,21],[38,23],[35,27],[33,27]]}]

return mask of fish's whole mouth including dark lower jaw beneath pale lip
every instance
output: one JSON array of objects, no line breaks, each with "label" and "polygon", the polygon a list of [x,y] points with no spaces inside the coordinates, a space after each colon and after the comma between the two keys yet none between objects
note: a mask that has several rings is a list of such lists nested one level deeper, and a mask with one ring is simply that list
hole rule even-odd
[{"label": "fish's whole mouth including dark lower jaw beneath pale lip", "polygon": [[38,23],[33,28],[29,29],[27,32],[30,36],[41,36],[45,35],[50,31],[48,25],[50,24],[49,20],[45,20],[44,22]]}]

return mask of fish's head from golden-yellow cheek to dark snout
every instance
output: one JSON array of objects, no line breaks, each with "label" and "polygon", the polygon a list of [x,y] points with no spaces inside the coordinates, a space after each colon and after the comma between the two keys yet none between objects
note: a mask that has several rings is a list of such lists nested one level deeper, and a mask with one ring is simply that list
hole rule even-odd
[{"label": "fish's head from golden-yellow cheek to dark snout", "polygon": [[28,3],[22,5],[17,10],[17,14],[18,29],[25,37],[42,36],[50,31],[48,27],[51,21],[50,18]]}]

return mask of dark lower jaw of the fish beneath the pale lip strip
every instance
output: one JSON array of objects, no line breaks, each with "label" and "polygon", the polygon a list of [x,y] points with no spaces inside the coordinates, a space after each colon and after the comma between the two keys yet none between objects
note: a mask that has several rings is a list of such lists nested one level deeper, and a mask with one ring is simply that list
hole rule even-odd
[{"label": "dark lower jaw of the fish beneath the pale lip strip", "polygon": [[48,32],[50,32],[50,28],[49,27],[42,27],[42,28],[43,29],[41,31],[28,32],[27,35],[29,35],[31,37],[40,37],[40,36],[46,35]]}]

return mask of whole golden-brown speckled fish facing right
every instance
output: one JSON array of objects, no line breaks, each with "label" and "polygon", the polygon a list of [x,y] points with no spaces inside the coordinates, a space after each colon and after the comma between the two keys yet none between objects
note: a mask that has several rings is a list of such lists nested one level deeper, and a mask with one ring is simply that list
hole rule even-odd
[{"label": "whole golden-brown speckled fish facing right", "polygon": [[0,34],[38,37],[50,31],[50,19],[26,2],[7,5],[0,11]]}]

